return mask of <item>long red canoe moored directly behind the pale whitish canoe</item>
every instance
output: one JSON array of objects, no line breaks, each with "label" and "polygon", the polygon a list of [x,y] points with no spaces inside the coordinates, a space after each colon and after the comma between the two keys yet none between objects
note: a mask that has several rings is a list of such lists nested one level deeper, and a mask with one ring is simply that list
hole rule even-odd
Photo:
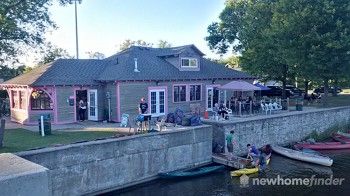
[{"label": "long red canoe moored directly behind the pale whitish canoe", "polygon": [[349,142],[316,142],[313,144],[310,143],[299,143],[294,145],[295,148],[309,148],[312,150],[338,150],[338,149],[350,149]]}]

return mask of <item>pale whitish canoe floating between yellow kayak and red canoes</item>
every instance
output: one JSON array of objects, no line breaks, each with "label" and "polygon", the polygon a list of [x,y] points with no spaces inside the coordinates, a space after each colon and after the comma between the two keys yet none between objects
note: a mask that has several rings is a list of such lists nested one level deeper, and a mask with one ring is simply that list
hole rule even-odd
[{"label": "pale whitish canoe floating between yellow kayak and red canoes", "polygon": [[323,166],[331,166],[333,160],[327,156],[305,153],[302,151],[292,150],[289,148],[283,148],[280,146],[273,146],[272,150],[280,155],[286,156],[290,159],[304,161],[308,163],[319,164]]}]

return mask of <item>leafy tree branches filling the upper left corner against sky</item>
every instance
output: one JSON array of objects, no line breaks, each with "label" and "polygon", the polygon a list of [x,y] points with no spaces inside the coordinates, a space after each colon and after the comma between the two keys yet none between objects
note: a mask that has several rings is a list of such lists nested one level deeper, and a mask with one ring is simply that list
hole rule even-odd
[{"label": "leafy tree branches filling the upper left corner against sky", "polygon": [[[48,13],[54,0],[0,1],[0,62],[17,59],[26,47],[38,48],[44,33],[55,28]],[[70,0],[57,0],[65,5]]]}]

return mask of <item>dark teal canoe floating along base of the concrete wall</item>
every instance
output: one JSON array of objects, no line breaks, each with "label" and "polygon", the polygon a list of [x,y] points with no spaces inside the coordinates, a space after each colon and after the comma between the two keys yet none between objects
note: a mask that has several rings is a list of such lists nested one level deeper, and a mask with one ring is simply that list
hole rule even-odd
[{"label": "dark teal canoe floating along base of the concrete wall", "polygon": [[225,166],[223,166],[223,165],[207,166],[207,167],[200,167],[200,168],[185,170],[185,171],[174,171],[174,172],[160,173],[159,176],[161,178],[166,178],[166,179],[190,178],[190,177],[196,177],[196,176],[210,174],[210,173],[216,172],[218,170],[222,170],[224,168],[225,168]]}]

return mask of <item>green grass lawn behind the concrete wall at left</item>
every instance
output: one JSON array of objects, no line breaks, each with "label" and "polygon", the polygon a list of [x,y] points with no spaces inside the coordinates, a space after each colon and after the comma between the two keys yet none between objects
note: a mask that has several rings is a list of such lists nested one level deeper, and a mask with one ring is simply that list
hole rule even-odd
[{"label": "green grass lawn behind the concrete wall at left", "polygon": [[90,141],[117,135],[111,131],[80,131],[80,132],[52,132],[52,135],[42,137],[38,132],[25,129],[6,129],[3,147],[0,153],[19,152],[33,148],[70,144],[79,141]]}]

